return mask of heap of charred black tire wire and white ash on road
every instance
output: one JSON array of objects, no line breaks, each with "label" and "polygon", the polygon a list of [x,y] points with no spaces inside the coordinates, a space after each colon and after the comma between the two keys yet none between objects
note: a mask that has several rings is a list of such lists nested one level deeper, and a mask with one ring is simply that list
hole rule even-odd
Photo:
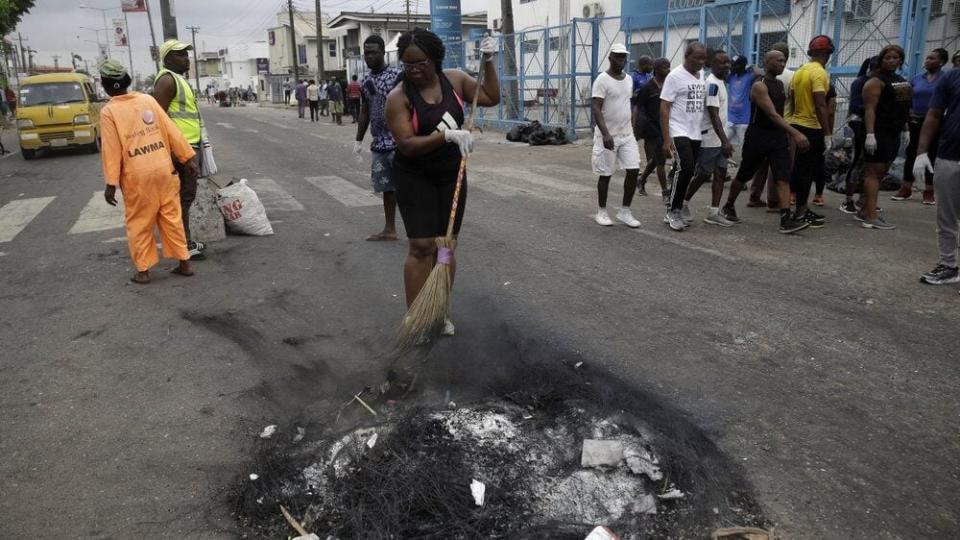
[{"label": "heap of charred black tire wire and white ash on road", "polygon": [[[538,373],[471,405],[394,404],[387,421],[309,443],[281,429],[243,482],[245,536],[290,533],[280,504],[342,539],[583,539],[597,525],[693,538],[763,525],[739,468],[685,420],[663,425],[667,411],[615,382]],[[389,407],[373,405],[378,418]]]}]

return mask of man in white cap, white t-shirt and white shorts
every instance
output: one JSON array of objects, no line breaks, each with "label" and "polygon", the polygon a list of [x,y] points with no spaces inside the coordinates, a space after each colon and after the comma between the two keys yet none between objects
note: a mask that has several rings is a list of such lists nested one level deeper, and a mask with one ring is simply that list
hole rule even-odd
[{"label": "man in white cap, white t-shirt and white shorts", "polygon": [[640,147],[633,136],[633,79],[624,73],[627,63],[627,48],[621,43],[610,47],[608,57],[610,67],[593,81],[591,108],[597,127],[593,133],[593,156],[591,164],[594,174],[600,176],[597,181],[597,199],[600,208],[594,220],[604,226],[613,225],[607,213],[607,191],[610,177],[619,166],[626,169],[623,182],[623,207],[617,211],[617,220],[629,227],[639,227],[640,222],[633,217],[630,203],[637,191],[637,175],[640,172]]}]

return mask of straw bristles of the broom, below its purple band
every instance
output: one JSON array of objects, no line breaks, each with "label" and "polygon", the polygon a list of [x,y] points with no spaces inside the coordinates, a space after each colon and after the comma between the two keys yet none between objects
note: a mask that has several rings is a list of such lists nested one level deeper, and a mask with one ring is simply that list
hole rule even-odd
[{"label": "straw bristles of the broom, below its purple band", "polygon": [[[453,249],[455,242],[446,238],[437,239],[438,248]],[[404,315],[400,328],[394,338],[394,348],[398,351],[410,348],[417,341],[434,332],[444,319],[450,316],[450,265],[437,263],[427,276],[423,288],[414,298]]]}]

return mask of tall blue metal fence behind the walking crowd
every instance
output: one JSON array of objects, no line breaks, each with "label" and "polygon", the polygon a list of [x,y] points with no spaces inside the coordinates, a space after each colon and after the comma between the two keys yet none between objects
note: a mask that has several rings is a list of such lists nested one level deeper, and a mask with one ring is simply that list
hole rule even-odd
[{"label": "tall blue metal fence behind the walking crowd", "polygon": [[[509,128],[537,120],[572,132],[593,126],[591,86],[607,69],[614,43],[631,51],[631,65],[641,55],[683,60],[687,44],[700,41],[713,49],[747,56],[759,63],[774,43],[788,44],[788,66],[807,61],[807,42],[816,34],[833,37],[837,50],[828,66],[843,117],[848,89],[866,58],[890,43],[907,50],[905,75],[923,68],[935,47],[960,47],[960,1],[944,0],[702,0],[673,1],[661,12],[641,17],[575,18],[569,24],[525,29],[500,35],[497,72],[500,104],[481,112],[486,125]],[[478,64],[479,43],[467,42],[467,68]],[[387,54],[396,63],[396,51]],[[348,73],[362,76],[362,58],[348,59]]]}]

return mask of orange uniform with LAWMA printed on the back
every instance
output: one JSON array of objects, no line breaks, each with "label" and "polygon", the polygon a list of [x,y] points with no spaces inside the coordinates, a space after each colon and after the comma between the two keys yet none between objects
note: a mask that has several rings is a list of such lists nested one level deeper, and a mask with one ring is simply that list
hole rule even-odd
[{"label": "orange uniform with LAWMA printed on the back", "polygon": [[180,210],[180,178],[171,153],[181,163],[196,155],[152,96],[131,92],[110,99],[100,113],[101,161],[107,185],[120,186],[130,257],[137,271],[160,260],[153,239],[160,229],[163,253],[187,260]]}]

